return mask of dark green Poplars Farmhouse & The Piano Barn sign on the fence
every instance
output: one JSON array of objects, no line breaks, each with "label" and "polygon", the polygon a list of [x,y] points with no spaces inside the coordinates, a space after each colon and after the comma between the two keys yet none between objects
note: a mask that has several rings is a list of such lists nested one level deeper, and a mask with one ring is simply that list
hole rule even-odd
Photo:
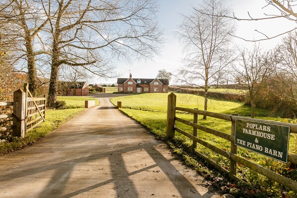
[{"label": "dark green Poplars Farmhouse & The Piano Barn sign on the fence", "polygon": [[235,145],[288,162],[290,127],[236,119]]}]

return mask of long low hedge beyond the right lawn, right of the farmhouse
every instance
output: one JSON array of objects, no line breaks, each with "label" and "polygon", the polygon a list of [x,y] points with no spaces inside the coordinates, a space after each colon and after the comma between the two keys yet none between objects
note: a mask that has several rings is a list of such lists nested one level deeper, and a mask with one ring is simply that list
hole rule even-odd
[{"label": "long low hedge beyond the right lawn, right of the farmhouse", "polygon": [[[169,87],[172,91],[179,91],[180,93],[189,93],[199,96],[204,96],[205,92],[202,90],[195,90],[190,88],[180,88],[180,87]],[[220,100],[229,100],[234,102],[243,102],[245,101],[246,94],[236,94],[236,93],[229,93],[229,92],[212,92],[208,91],[208,96],[211,98],[216,98]]]}]

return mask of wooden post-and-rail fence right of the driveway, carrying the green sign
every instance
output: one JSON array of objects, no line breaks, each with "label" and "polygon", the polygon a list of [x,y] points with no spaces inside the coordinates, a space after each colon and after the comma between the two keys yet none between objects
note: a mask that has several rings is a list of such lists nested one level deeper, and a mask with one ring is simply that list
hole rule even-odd
[{"label": "wooden post-and-rail fence right of the driveway, carrying the green sign", "polygon": [[[176,110],[193,113],[194,114],[194,122],[190,122],[190,121],[183,120],[181,118],[177,118],[175,116]],[[198,114],[230,121],[231,122],[231,134],[227,134],[224,132],[220,132],[220,131],[213,130],[213,129],[207,128],[205,126],[199,125],[198,124]],[[251,118],[240,117],[238,115],[219,114],[219,113],[214,113],[214,112],[201,111],[201,110],[197,110],[197,109],[176,107],[176,95],[173,93],[168,95],[167,131],[166,131],[167,138],[174,137],[175,131],[180,132],[181,134],[183,134],[193,140],[194,148],[196,148],[197,143],[200,143],[201,145],[228,158],[230,160],[230,168],[229,168],[230,171],[222,168],[217,163],[215,163],[213,160],[207,158],[202,153],[195,150],[195,153],[199,157],[208,161],[212,166],[214,166],[219,171],[225,173],[226,175],[228,175],[231,179],[233,179],[236,182],[239,182],[239,183],[241,182],[241,183],[246,184],[246,182],[244,182],[243,180],[241,180],[240,178],[238,178],[236,176],[236,172],[237,172],[237,164],[236,163],[240,163],[240,164],[244,165],[245,167],[250,168],[250,169],[254,170],[255,172],[260,173],[261,175],[264,175],[267,178],[269,178],[279,184],[282,184],[283,186],[286,186],[289,189],[297,192],[297,182],[296,181],[293,181],[287,177],[284,177],[274,171],[271,171],[263,166],[260,166],[254,162],[251,162],[251,161],[237,155],[237,146],[235,145],[235,121],[236,121],[236,119],[247,120],[247,121],[252,121],[252,122],[268,123],[268,124],[273,124],[273,125],[289,126],[291,133],[297,133],[297,125],[296,124],[280,123],[280,122],[260,120],[260,119],[251,119]],[[178,121],[178,122],[181,122],[181,123],[184,123],[186,125],[193,127],[193,135],[177,128],[175,126],[175,121]],[[222,138],[230,141],[230,152],[225,151],[221,148],[218,148],[218,147],[198,138],[197,137],[198,129],[201,131],[208,132],[213,135],[222,137]],[[293,153],[288,153],[288,161],[290,161],[294,164],[297,164],[297,155],[293,154]]]}]

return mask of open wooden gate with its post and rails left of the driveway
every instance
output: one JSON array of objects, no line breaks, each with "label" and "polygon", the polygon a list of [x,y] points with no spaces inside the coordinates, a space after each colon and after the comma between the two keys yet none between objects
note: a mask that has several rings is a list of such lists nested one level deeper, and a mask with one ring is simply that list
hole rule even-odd
[{"label": "open wooden gate with its post and rails left of the driveway", "polygon": [[45,121],[46,99],[32,97],[28,84],[13,93],[13,102],[0,102],[0,106],[13,106],[12,114],[0,115],[0,119],[12,118],[12,126],[0,127],[0,132],[12,130],[13,136],[24,137]]}]

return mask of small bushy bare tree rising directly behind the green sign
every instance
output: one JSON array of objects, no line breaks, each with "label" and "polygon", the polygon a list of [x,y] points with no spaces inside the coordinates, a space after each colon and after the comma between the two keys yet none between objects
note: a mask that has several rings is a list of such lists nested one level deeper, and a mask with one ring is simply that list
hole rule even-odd
[{"label": "small bushy bare tree rising directly behind the green sign", "polygon": [[272,72],[269,60],[269,53],[261,54],[259,46],[255,46],[252,51],[242,50],[239,66],[233,66],[238,84],[248,90],[251,118],[255,114],[255,99]]}]

